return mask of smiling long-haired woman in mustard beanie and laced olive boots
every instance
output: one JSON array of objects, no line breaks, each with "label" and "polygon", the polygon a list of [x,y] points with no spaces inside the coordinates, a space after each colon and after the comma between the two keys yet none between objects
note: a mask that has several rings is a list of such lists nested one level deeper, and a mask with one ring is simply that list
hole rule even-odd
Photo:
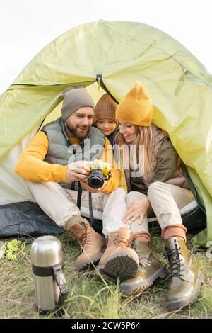
[{"label": "smiling long-haired woman in mustard beanie and laced olive boots", "polygon": [[194,200],[180,169],[167,133],[153,125],[153,107],[148,91],[138,82],[117,106],[117,143],[122,152],[128,194],[123,222],[131,225],[140,268],[136,277],[121,284],[130,295],[145,290],[158,277],[165,277],[163,265],[152,255],[148,243],[148,214],[155,214],[170,266],[168,310],[186,306],[199,295],[203,273],[186,247],[187,229],[179,209]]}]

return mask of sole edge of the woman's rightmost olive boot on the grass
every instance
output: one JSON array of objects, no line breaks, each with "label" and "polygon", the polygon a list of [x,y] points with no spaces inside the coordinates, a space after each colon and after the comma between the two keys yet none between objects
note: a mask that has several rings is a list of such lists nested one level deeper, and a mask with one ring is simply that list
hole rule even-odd
[{"label": "sole edge of the woman's rightmost olive boot on the grass", "polygon": [[197,300],[197,298],[199,296],[201,283],[204,283],[204,281],[205,281],[204,273],[202,273],[202,271],[199,271],[198,283],[196,284],[196,290],[194,291],[194,293],[192,293],[192,295],[190,295],[189,298],[186,298],[184,300],[177,300],[175,302],[165,303],[167,310],[168,311],[176,310],[179,307],[185,307],[189,304],[194,303],[194,301]]}]

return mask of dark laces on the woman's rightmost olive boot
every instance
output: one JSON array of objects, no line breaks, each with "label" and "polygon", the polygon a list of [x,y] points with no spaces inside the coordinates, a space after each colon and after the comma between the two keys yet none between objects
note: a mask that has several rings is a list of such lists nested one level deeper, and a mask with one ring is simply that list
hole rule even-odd
[{"label": "dark laces on the woman's rightmost olive boot", "polygon": [[180,258],[180,249],[180,247],[176,249],[170,249],[165,254],[170,264],[170,279],[177,277],[182,281],[187,281],[184,279],[184,264],[182,262],[182,258]]}]

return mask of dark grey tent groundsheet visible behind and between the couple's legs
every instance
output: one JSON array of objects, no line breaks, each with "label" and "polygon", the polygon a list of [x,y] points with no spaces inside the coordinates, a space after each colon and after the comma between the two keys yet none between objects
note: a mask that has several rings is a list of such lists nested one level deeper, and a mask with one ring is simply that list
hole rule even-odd
[{"label": "dark grey tent groundsheet visible behind and between the couple's legs", "polygon": [[[88,208],[81,207],[81,215],[88,221],[90,213]],[[42,211],[37,203],[32,201],[24,201],[19,203],[11,203],[8,205],[0,205],[0,237],[21,236],[39,236],[64,232],[63,227],[59,227],[54,221]],[[93,228],[96,232],[102,232],[102,212],[94,211]],[[96,216],[97,215],[97,216]],[[100,215],[100,216],[98,216]],[[8,220],[9,216],[9,220]],[[205,227],[206,215],[203,214],[198,206],[188,213],[182,214],[185,227],[188,232],[196,235]],[[150,225],[158,225],[158,222],[151,222]]]}]

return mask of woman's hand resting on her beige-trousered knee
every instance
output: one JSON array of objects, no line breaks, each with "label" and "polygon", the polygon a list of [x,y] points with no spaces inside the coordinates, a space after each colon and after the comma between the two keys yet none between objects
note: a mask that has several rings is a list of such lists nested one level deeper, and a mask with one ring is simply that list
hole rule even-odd
[{"label": "woman's hand resting on her beige-trousered knee", "polygon": [[122,218],[122,222],[129,223],[129,225],[131,225],[131,223],[139,218],[139,225],[141,225],[143,217],[146,215],[149,206],[150,202],[148,198],[145,197],[130,203],[128,210],[126,210],[126,213]]}]

